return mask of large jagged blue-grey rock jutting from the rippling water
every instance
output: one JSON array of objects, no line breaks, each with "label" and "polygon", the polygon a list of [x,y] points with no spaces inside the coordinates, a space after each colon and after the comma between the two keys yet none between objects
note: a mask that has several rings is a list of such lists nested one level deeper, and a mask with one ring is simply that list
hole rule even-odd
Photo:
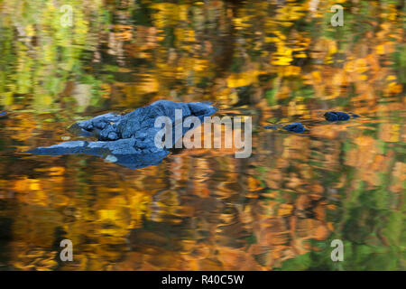
[{"label": "large jagged blue-grey rock jutting from the rippling water", "polygon": [[[108,162],[117,163],[130,169],[139,169],[161,163],[170,154],[154,143],[155,135],[161,127],[154,127],[157,117],[170,117],[175,124],[175,109],[182,109],[183,119],[204,117],[217,112],[217,108],[202,102],[177,103],[159,100],[148,107],[140,107],[124,116],[108,113],[88,120],[79,121],[71,129],[81,135],[97,136],[98,141],[71,141],[47,147],[37,147],[25,153],[37,155],[92,154]],[[191,129],[193,129],[192,127]],[[173,135],[174,135],[173,126]],[[190,128],[183,128],[184,135]],[[177,139],[172,137],[172,144]]]}]

